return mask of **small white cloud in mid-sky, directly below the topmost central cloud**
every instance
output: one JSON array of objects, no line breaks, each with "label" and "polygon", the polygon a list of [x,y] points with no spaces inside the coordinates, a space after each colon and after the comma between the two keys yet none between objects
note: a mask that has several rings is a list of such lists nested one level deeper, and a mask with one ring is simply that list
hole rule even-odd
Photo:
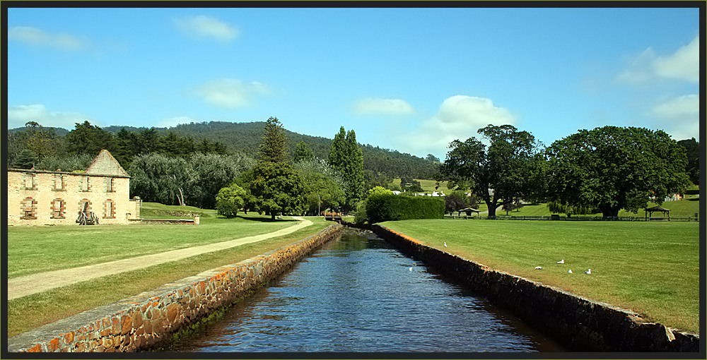
[{"label": "small white cloud in mid-sky, directly below the topmost central cloud", "polygon": [[252,104],[255,95],[268,93],[269,88],[263,83],[257,81],[243,83],[241,80],[231,78],[210,81],[197,89],[197,95],[203,97],[204,101],[226,109],[245,107]]}]

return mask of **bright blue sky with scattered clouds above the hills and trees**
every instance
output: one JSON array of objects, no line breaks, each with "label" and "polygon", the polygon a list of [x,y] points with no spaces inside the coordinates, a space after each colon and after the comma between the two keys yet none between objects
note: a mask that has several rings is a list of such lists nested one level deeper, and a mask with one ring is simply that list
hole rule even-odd
[{"label": "bright blue sky with scattered clouds above the hills and trees", "polygon": [[[409,4],[409,3],[407,3]],[[698,8],[8,8],[8,128],[265,121],[444,160],[512,124],[699,140]]]}]

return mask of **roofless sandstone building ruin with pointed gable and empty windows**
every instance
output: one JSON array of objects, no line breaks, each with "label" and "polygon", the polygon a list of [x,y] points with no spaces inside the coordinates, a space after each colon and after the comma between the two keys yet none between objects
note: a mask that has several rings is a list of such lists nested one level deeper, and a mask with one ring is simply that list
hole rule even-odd
[{"label": "roofless sandstone building ruin with pointed gable and empty windows", "polygon": [[76,225],[87,209],[99,224],[127,224],[139,219],[141,205],[129,190],[130,176],[107,150],[83,173],[8,169],[7,223]]}]

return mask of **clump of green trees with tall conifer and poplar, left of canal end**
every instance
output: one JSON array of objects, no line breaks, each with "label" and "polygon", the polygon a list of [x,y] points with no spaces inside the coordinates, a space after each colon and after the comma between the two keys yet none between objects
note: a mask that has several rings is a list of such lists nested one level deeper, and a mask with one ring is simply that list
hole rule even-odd
[{"label": "clump of green trees with tall conifer and poplar, left of canal end", "polygon": [[349,210],[363,193],[363,157],[354,131],[343,127],[334,138],[329,161],[320,160],[300,143],[288,162],[286,134],[280,121],[267,120],[259,145],[259,160],[218,191],[216,209],[233,217],[238,210],[279,214],[318,213],[332,208]]}]

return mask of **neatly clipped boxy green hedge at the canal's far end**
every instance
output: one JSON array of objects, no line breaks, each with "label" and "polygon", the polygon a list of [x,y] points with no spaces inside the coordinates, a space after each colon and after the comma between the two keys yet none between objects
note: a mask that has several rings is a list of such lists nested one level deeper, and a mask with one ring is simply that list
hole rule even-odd
[{"label": "neatly clipped boxy green hedge at the canal's far end", "polygon": [[431,196],[403,196],[377,194],[366,200],[368,222],[442,219],[444,216],[443,198]]}]

